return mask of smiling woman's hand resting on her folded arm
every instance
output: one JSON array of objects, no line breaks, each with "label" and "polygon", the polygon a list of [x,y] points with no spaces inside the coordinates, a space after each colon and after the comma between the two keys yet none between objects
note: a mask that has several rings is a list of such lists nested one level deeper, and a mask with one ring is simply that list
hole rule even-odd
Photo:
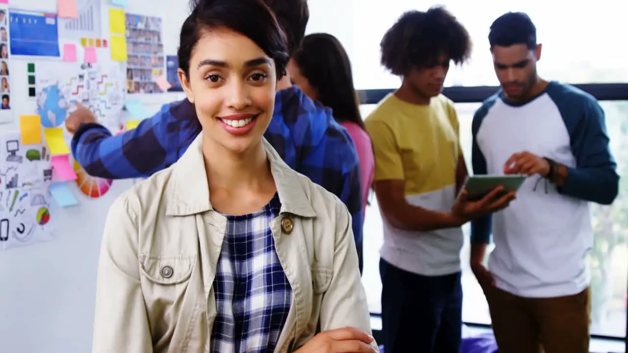
[{"label": "smiling woman's hand resting on her folded arm", "polygon": [[371,335],[354,327],[323,331],[295,353],[376,353]]}]

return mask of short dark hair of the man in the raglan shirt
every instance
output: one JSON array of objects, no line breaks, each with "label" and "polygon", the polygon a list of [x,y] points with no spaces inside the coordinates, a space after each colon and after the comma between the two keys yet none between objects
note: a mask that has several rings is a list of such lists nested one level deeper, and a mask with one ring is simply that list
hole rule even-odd
[{"label": "short dark hair of the man in the raglan shirt", "polygon": [[490,25],[489,43],[491,49],[495,45],[525,44],[532,50],[536,48],[536,26],[528,14],[502,14]]}]

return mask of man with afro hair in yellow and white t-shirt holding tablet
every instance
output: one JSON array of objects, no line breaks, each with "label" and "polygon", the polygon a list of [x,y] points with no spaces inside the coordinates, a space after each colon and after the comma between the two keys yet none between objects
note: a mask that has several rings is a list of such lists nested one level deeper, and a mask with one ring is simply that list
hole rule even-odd
[{"label": "man with afro hair in yellow and white t-shirt holding tablet", "polygon": [[441,90],[450,62],[462,64],[470,50],[467,30],[441,7],[404,13],[381,41],[382,65],[403,77],[365,121],[384,222],[386,353],[460,351],[461,226],[514,198],[493,190],[472,202],[460,192],[467,168],[458,119]]}]

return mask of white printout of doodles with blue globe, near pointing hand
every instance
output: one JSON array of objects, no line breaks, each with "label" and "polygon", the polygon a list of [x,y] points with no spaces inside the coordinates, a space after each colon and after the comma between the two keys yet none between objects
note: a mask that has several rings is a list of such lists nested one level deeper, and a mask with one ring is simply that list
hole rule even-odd
[{"label": "white printout of doodles with blue globe, near pointing hand", "polygon": [[[106,51],[106,49],[97,49]],[[99,55],[100,58],[106,55]],[[100,124],[118,131],[126,94],[126,67],[122,62],[36,63],[37,106],[41,124],[60,126],[76,102],[94,112]],[[60,113],[55,113],[58,109]]]}]

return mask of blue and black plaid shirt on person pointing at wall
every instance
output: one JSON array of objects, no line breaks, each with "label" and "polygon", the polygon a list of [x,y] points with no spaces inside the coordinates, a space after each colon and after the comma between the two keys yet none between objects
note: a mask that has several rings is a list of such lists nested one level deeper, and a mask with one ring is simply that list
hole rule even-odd
[{"label": "blue and black plaid shirt on person pointing at wall", "polygon": [[[144,177],[175,163],[200,131],[194,106],[185,99],[117,136],[100,124],[82,124],[72,138],[72,155],[92,176]],[[280,90],[264,137],[286,164],[347,205],[355,242],[361,244],[360,166],[353,140],[332,111],[296,86]]]}]

